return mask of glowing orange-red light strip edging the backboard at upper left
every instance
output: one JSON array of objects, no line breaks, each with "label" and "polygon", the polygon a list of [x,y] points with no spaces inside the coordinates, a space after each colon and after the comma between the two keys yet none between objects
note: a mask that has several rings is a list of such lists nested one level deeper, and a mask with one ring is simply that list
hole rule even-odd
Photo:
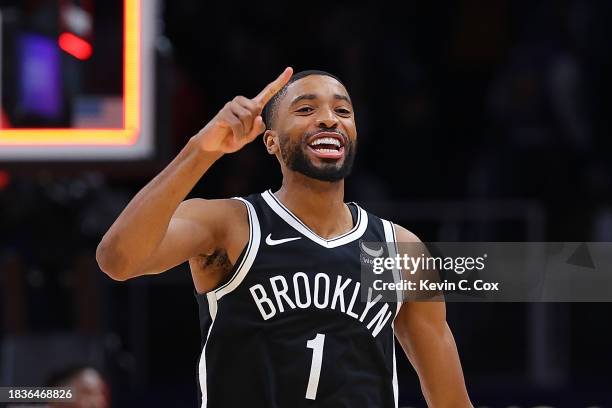
[{"label": "glowing orange-red light strip edging the backboard at upper left", "polygon": [[140,135],[141,124],[141,1],[124,0],[123,37],[123,127],[114,129],[2,129],[2,147],[131,146]]}]

